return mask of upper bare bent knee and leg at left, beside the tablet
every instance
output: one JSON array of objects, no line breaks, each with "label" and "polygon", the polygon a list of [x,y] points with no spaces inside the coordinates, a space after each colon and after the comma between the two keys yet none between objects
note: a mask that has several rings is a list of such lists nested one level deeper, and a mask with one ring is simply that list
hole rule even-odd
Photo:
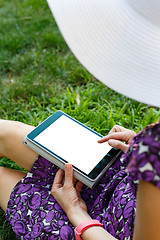
[{"label": "upper bare bent knee and leg at left, beside the tablet", "polygon": [[38,154],[26,147],[22,140],[33,129],[33,126],[20,122],[0,120],[0,156],[30,170]]}]

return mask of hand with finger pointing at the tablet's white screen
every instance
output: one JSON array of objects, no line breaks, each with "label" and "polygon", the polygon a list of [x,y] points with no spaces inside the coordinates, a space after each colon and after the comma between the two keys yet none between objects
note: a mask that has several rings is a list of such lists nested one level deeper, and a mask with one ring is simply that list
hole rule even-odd
[{"label": "hand with finger pointing at the tablet's white screen", "polygon": [[[111,147],[117,148],[125,152],[132,138],[136,135],[136,133],[127,128],[121,127],[119,125],[115,125],[107,136],[102,137],[98,143],[107,142]],[[125,143],[124,143],[125,142]]]}]

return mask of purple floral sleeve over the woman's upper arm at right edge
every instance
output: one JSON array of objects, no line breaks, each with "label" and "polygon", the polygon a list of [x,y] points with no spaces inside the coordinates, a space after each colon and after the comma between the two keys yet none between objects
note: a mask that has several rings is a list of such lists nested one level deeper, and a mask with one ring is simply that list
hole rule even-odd
[{"label": "purple floral sleeve over the woman's upper arm at right edge", "polygon": [[128,173],[160,188],[160,123],[138,134],[128,151]]}]

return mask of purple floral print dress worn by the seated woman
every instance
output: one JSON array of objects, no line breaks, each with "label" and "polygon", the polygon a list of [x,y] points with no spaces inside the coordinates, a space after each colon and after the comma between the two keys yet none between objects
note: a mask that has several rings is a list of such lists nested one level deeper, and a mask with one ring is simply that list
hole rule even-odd
[{"label": "purple floral print dress worn by the seated woman", "polygon": [[[72,224],[50,192],[56,171],[57,167],[39,156],[14,187],[6,217],[18,239],[75,239]],[[129,150],[94,189],[82,189],[89,215],[117,239],[132,239],[140,179],[160,188],[160,122],[132,140]]]}]

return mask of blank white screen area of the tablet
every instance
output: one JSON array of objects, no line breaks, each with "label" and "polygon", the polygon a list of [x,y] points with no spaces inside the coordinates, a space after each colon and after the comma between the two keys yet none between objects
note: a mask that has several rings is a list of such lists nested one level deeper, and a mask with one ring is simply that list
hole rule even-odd
[{"label": "blank white screen area of the tablet", "polygon": [[107,142],[98,143],[99,139],[98,135],[65,115],[34,138],[86,174],[89,174],[111,150]]}]

